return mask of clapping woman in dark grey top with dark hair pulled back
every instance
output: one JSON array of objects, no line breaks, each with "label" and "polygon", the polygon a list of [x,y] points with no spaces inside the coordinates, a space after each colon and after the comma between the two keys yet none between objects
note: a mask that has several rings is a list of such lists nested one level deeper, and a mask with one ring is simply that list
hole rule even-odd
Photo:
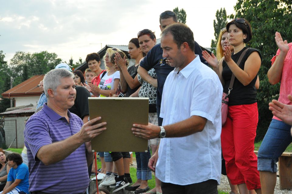
[{"label": "clapping woman in dark grey top with dark hair pulled back", "polygon": [[125,97],[129,97],[131,94],[137,91],[140,87],[140,83],[137,79],[137,69],[139,61],[144,57],[144,53],[140,49],[139,41],[137,38],[132,38],[128,44],[129,55],[132,59],[135,59],[135,65],[127,68],[126,57],[121,57],[119,53],[115,54],[115,62],[120,71],[120,84]]}]

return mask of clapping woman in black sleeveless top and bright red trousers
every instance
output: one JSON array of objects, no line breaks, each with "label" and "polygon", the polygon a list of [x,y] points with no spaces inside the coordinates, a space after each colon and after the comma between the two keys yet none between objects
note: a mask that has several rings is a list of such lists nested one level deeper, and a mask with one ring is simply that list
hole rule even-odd
[{"label": "clapping woman in black sleeveless top and bright red trousers", "polygon": [[241,194],[248,194],[248,190],[253,189],[261,193],[257,158],[253,151],[258,123],[255,82],[262,58],[258,50],[249,48],[238,66],[240,55],[247,49],[245,43],[252,38],[251,26],[245,19],[237,18],[232,19],[226,29],[234,53],[231,53],[230,46],[224,46],[224,57],[213,67],[223,84],[224,93],[228,93],[231,75],[235,75],[228,116],[221,132],[226,172],[231,184],[238,185]]}]

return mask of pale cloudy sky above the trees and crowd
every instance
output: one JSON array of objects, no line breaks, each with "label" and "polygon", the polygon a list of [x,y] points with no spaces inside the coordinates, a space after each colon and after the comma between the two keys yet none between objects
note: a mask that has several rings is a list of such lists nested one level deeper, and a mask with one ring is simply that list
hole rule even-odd
[{"label": "pale cloudy sky above the trees and crowd", "polygon": [[[98,52],[106,44],[127,45],[138,31],[160,37],[159,14],[175,7],[186,10],[186,24],[195,40],[210,47],[217,9],[234,13],[236,0],[5,0],[0,6],[0,50],[9,61],[16,51],[54,52],[63,61]],[[102,44],[102,45],[101,45]]]}]

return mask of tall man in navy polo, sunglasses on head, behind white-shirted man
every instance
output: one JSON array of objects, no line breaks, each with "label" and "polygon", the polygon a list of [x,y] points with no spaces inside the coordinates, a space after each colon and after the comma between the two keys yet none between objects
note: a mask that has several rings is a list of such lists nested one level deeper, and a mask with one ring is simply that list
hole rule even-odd
[{"label": "tall man in navy polo, sunglasses on head, behind white-shirted man", "polygon": [[[165,29],[166,26],[169,26],[170,24],[177,23],[177,16],[175,12],[172,11],[165,11],[162,12],[159,16],[159,27],[160,30],[162,31]],[[206,60],[203,59],[202,57],[202,50],[200,48],[200,45],[196,43],[195,41],[195,54],[199,55],[200,61],[206,65],[208,63]],[[144,57],[144,59],[140,62],[140,65],[138,67],[138,74],[140,74],[141,78],[143,78],[145,81],[153,85],[154,87],[157,87],[157,99],[156,99],[156,108],[157,108],[157,116],[158,116],[158,125],[162,125],[162,118],[159,117],[160,114],[160,105],[161,105],[161,98],[162,98],[162,91],[163,91],[163,86],[166,77],[168,74],[174,69],[173,67],[170,67],[168,64],[163,61],[162,57],[163,50],[161,48],[160,43],[156,44]],[[166,60],[166,62],[168,62]],[[148,71],[154,68],[156,71],[156,76],[157,79],[152,78],[149,74]]]}]

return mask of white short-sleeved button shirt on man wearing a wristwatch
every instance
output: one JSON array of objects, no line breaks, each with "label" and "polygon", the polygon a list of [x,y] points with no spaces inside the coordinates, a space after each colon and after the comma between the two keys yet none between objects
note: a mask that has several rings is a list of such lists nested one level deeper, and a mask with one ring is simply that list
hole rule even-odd
[{"label": "white short-sleeved button shirt on man wearing a wristwatch", "polygon": [[161,139],[155,169],[159,180],[177,185],[209,179],[220,183],[222,92],[217,74],[201,63],[198,55],[182,71],[175,68],[167,76],[160,112],[162,126],[193,115],[206,118],[207,123],[202,132]]}]

